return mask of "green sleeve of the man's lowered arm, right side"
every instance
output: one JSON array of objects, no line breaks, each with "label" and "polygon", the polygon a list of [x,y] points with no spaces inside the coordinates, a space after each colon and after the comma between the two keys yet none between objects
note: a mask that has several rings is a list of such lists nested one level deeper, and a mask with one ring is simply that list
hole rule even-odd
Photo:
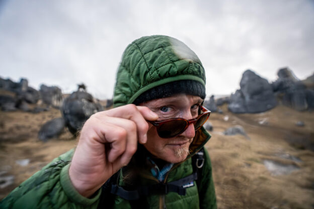
[{"label": "green sleeve of the man's lowered arm, right side", "polygon": [[211,162],[208,151],[204,148],[204,166],[202,169],[201,188],[199,191],[200,208],[216,209],[216,194],[211,172]]}]

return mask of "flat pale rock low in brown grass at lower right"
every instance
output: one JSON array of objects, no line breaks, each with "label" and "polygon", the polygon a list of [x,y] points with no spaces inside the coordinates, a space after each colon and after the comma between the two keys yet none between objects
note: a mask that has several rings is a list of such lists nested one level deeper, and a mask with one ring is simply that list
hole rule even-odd
[{"label": "flat pale rock low in brown grass at lower right", "polygon": [[299,169],[299,167],[295,165],[286,165],[273,160],[264,160],[264,165],[273,176],[287,175],[292,171]]}]

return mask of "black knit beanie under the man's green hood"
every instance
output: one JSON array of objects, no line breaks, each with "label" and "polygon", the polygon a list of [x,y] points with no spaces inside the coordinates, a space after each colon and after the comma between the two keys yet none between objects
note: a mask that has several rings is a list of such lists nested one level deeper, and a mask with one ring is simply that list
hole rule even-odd
[{"label": "black knit beanie under the man's green hood", "polygon": [[195,95],[201,97],[202,99],[206,96],[205,87],[200,82],[195,80],[178,80],[165,83],[145,91],[133,101],[133,104],[138,105],[144,101],[169,97],[178,93]]}]

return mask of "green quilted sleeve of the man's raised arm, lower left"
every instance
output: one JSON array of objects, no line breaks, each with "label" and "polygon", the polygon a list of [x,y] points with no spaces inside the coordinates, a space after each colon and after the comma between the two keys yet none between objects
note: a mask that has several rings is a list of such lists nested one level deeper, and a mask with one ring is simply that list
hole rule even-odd
[{"label": "green quilted sleeve of the man's raised arm, lower left", "polygon": [[86,198],[73,187],[68,168],[74,149],[55,158],[0,202],[0,208],[97,208],[101,189]]}]

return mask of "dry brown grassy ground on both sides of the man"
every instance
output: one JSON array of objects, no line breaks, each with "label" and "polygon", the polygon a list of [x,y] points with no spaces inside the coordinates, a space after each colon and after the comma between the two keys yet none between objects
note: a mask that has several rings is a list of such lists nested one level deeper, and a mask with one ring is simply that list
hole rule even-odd
[{"label": "dry brown grassy ground on both sides of the man", "polygon": [[[261,114],[212,113],[212,138],[206,144],[213,167],[218,208],[314,208],[314,114],[287,107]],[[44,143],[41,125],[60,117],[56,109],[40,114],[0,112],[0,176],[14,183],[0,188],[0,199],[40,170],[53,158],[75,147],[68,131]],[[303,121],[305,126],[295,123]],[[224,130],[240,125],[248,137],[225,136]],[[29,159],[22,166],[17,160]],[[289,174],[271,173],[265,162],[293,167]],[[1,182],[0,182],[1,183]]]}]

